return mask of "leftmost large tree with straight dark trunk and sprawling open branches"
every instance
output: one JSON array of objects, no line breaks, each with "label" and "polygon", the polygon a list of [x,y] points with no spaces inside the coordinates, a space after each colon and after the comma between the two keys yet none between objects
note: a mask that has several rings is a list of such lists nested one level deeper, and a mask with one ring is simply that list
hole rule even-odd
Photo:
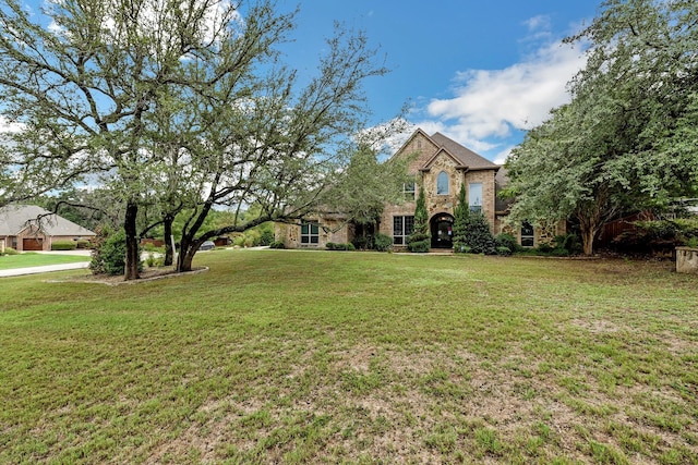
[{"label": "leftmost large tree with straight dark trunk and sprawling open branches", "polygon": [[262,3],[239,27],[237,4],[210,0],[65,0],[33,15],[17,0],[5,3],[0,98],[5,118],[24,127],[14,135],[14,188],[60,189],[91,175],[119,192],[124,273],[135,279],[139,207],[161,164],[147,147],[163,90],[195,95],[232,74],[242,79],[240,70],[268,56],[290,16]]}]

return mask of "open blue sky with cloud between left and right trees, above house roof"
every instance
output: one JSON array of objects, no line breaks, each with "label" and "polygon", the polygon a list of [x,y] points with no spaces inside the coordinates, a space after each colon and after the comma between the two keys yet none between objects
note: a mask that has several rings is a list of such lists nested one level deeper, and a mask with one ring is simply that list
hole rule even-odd
[{"label": "open blue sky with cloud between left and right trees, above house roof", "polygon": [[[581,46],[562,45],[597,0],[300,0],[287,59],[313,72],[334,21],[363,29],[388,75],[365,82],[371,124],[395,117],[504,162],[526,129],[568,100]],[[296,3],[285,2],[289,9]]]}]

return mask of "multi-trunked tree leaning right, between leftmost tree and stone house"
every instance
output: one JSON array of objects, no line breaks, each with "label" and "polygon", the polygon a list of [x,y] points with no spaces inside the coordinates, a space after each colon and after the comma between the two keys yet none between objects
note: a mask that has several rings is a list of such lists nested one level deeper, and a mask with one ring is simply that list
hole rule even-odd
[{"label": "multi-trunked tree leaning right, between leftmost tree and stone house", "polygon": [[[294,91],[294,75],[279,72],[264,88],[231,106],[228,86],[216,83],[206,99],[209,124],[196,145],[197,170],[205,173],[203,200],[182,230],[178,269],[191,269],[198,245],[216,235],[242,232],[267,221],[298,221],[317,211],[337,184],[353,146],[351,136],[364,126],[368,108],[362,83],[383,75],[363,34],[338,28],[327,41],[318,75]],[[200,233],[214,206],[258,204],[262,215]]]}]

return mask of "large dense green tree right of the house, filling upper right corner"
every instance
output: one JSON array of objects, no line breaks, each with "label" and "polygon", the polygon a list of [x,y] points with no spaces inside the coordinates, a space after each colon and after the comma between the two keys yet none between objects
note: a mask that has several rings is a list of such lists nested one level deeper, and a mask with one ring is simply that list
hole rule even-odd
[{"label": "large dense green tree right of the house, filling upper right corner", "polygon": [[698,184],[698,9],[686,0],[609,0],[567,41],[588,40],[573,99],[551,112],[506,167],[510,218],[574,218],[586,254],[605,222],[657,208]]}]

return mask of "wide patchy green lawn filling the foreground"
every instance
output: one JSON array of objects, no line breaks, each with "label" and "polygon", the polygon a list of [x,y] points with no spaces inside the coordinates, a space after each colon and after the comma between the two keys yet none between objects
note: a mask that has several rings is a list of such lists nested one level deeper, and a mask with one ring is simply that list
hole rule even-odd
[{"label": "wide patchy green lawn filling the foreground", "polygon": [[0,463],[698,463],[698,281],[670,262],[194,265],[0,280]]}]

